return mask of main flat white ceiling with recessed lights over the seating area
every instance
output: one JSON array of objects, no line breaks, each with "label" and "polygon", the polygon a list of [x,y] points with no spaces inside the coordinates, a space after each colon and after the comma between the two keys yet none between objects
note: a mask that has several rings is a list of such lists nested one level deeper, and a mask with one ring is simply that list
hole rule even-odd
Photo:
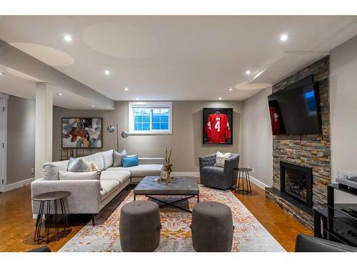
[{"label": "main flat white ceiling with recessed lights over the seating area", "polygon": [[357,16],[0,19],[0,39],[113,100],[244,100],[356,34]]}]

